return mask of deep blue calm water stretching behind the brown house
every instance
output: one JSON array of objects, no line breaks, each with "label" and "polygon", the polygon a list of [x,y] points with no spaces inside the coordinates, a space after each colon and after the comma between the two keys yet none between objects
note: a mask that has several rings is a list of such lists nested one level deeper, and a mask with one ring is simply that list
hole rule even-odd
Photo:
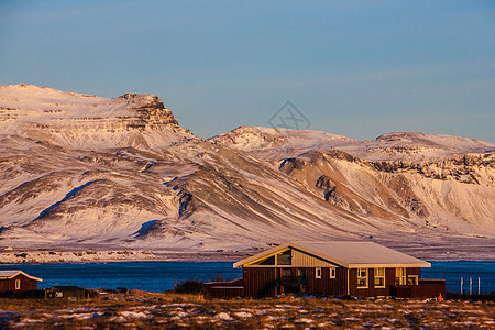
[{"label": "deep blue calm water stretching behind the brown house", "polygon": [[[174,282],[201,279],[208,282],[221,274],[226,279],[242,276],[241,270],[232,268],[231,262],[112,262],[80,264],[20,264],[0,265],[2,270],[22,270],[43,278],[40,288],[70,284],[87,288],[141,289],[164,292],[174,287]],[[460,292],[460,278],[464,278],[463,292],[469,293],[470,277],[473,294],[495,292],[495,262],[438,261],[431,268],[422,268],[422,278],[447,279],[448,292]]]}]

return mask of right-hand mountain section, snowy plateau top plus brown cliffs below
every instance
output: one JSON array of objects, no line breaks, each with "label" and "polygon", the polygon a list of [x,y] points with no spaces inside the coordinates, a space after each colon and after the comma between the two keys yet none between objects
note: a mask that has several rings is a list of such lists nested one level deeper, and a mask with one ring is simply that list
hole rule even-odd
[{"label": "right-hand mountain section, snowy plateau top plus brown cliffs below", "polygon": [[388,223],[391,232],[495,234],[493,143],[416,132],[354,141],[266,128],[212,141],[271,163],[317,198],[373,226]]}]

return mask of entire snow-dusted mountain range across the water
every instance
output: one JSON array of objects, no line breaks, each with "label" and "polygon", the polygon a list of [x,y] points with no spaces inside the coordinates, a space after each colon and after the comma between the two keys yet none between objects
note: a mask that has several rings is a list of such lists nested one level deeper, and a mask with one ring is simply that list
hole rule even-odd
[{"label": "entire snow-dusted mountain range across the water", "polygon": [[241,127],[205,140],[156,96],[0,86],[0,246],[490,244],[494,151],[415,132]]}]

